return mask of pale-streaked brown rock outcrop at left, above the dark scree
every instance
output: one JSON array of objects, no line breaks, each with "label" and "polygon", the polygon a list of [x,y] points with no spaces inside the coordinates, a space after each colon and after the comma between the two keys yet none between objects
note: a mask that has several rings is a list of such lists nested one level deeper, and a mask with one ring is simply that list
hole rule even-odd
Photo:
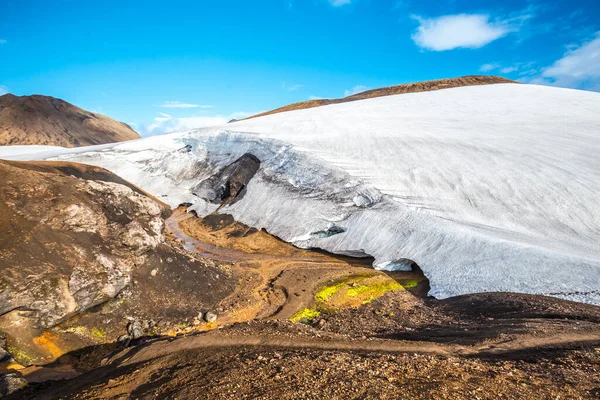
[{"label": "pale-streaked brown rock outcrop at left, above the dark scree", "polygon": [[34,310],[41,327],[53,326],[115,297],[164,240],[164,208],[127,186],[4,163],[0,171],[0,315]]}]

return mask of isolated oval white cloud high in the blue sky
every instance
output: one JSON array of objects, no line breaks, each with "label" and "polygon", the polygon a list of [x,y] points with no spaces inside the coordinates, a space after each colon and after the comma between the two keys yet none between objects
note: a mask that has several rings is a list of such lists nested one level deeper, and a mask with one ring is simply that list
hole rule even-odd
[{"label": "isolated oval white cloud high in the blue sky", "polygon": [[421,18],[419,28],[411,36],[417,46],[433,51],[456,48],[477,49],[513,32],[509,21],[491,22],[485,14],[444,15]]}]

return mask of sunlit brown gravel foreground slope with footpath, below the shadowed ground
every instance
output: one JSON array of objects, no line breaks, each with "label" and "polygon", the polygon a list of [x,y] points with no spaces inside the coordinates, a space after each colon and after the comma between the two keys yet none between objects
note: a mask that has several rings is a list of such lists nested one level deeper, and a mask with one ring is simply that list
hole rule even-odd
[{"label": "sunlit brown gravel foreground slope with footpath, below the shadowed ground", "polygon": [[78,365],[91,369],[82,376],[33,384],[18,398],[594,399],[600,394],[600,338],[594,337],[517,341],[490,353],[251,323],[115,352],[101,364]]}]

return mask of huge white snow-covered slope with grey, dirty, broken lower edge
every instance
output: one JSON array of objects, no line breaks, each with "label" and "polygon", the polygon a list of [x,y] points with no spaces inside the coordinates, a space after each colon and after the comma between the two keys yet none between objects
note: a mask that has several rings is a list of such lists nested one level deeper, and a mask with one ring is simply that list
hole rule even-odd
[{"label": "huge white snow-covered slope with grey, dirty, broken lower edge", "polygon": [[[188,146],[188,147],[184,147]],[[600,95],[499,84],[274,114],[37,157],[108,168],[171,205],[245,153],[224,206],[299,246],[416,262],[431,294],[540,293],[600,304]],[[83,152],[83,153],[82,153]]]}]

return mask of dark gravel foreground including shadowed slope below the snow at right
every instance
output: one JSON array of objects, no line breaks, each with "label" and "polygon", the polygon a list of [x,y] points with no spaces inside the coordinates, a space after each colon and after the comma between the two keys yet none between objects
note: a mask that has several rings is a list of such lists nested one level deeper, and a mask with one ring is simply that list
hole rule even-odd
[{"label": "dark gravel foreground including shadowed slope below the snow at right", "polygon": [[[98,346],[26,371],[33,383],[13,398],[598,398],[597,307],[503,294],[434,303],[397,291],[313,322]],[[382,335],[386,321],[413,337]],[[81,375],[35,383],[69,368]]]}]

